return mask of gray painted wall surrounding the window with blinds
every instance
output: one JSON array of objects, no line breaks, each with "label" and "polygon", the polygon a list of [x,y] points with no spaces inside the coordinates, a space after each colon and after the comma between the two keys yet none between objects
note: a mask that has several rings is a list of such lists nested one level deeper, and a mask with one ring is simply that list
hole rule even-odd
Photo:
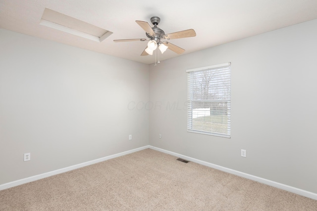
[{"label": "gray painted wall surrounding the window with blinds", "polygon": [[[317,193],[316,49],[313,20],[150,65],[150,145]],[[187,132],[186,70],[225,62],[231,138]]]}]

